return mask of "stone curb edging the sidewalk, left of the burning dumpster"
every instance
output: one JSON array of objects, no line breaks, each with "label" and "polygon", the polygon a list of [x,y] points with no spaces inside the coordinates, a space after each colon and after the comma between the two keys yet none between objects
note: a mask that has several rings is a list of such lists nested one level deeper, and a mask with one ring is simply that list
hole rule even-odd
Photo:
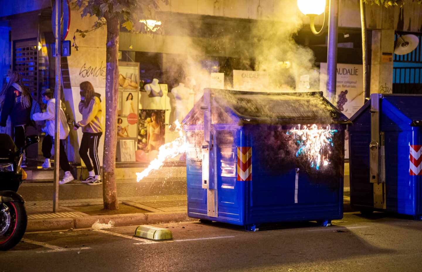
[{"label": "stone curb edging the sidewalk, left of the burning dumpster", "polygon": [[100,223],[114,221],[114,226],[133,226],[158,223],[173,223],[196,221],[195,218],[189,218],[187,211],[183,212],[147,212],[147,213],[129,213],[120,215],[93,215],[84,217],[67,218],[48,218],[48,219],[30,219],[28,220],[26,232],[32,231],[58,231],[70,228],[91,228],[97,220]]}]

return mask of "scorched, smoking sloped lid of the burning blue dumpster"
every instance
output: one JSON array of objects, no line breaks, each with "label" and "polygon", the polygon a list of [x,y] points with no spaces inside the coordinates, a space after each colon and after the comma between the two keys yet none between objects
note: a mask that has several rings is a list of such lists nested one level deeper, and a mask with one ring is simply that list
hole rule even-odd
[{"label": "scorched, smoking sloped lid of the burning blue dumpster", "polygon": [[[212,111],[222,111],[232,122],[269,124],[333,124],[350,123],[350,120],[333,106],[322,92],[243,92],[235,90],[205,89],[210,92]],[[201,98],[183,120],[200,113]],[[204,105],[203,105],[204,106]],[[221,116],[222,114],[218,114]],[[226,123],[224,120],[220,123]],[[215,123],[215,122],[213,122]]]}]

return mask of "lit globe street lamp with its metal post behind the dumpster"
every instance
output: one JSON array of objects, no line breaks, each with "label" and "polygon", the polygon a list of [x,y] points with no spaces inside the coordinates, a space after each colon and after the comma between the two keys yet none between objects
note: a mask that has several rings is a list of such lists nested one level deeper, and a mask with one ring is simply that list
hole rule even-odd
[{"label": "lit globe street lamp with its metal post behind the dumpster", "polygon": [[[337,82],[337,33],[338,33],[338,0],[329,0],[328,44],[327,44],[327,95],[331,103],[335,102],[335,87]],[[325,24],[326,0],[298,0],[300,12],[309,16],[312,33],[321,35]],[[321,30],[315,29],[314,18],[324,13],[324,23]]]}]

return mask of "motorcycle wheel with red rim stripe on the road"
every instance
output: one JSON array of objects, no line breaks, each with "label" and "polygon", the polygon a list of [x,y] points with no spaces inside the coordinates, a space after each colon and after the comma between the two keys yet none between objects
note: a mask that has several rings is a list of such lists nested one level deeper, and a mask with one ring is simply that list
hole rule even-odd
[{"label": "motorcycle wheel with red rim stripe on the road", "polygon": [[0,250],[13,248],[24,236],[27,214],[22,202],[0,204]]}]

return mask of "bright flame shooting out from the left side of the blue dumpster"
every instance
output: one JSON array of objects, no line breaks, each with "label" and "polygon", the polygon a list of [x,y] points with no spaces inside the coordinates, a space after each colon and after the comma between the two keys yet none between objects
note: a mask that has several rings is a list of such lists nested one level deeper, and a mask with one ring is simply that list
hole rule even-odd
[{"label": "bright flame shooting out from the left side of the blue dumpster", "polygon": [[158,158],[151,161],[149,166],[141,173],[136,173],[136,182],[139,182],[144,177],[148,176],[152,170],[160,169],[161,166],[163,166],[165,160],[174,158],[177,155],[186,152],[187,144],[183,134],[182,125],[178,120],[174,122],[174,125],[176,126],[175,131],[179,133],[179,136],[174,141],[164,144],[158,149]]}]

